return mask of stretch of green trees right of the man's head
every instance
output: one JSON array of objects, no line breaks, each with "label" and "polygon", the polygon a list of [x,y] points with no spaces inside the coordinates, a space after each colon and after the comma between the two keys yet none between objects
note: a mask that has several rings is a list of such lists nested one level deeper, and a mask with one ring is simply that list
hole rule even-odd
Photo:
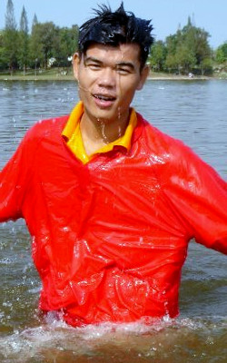
[{"label": "stretch of green trees right of the man's head", "polygon": [[[226,68],[227,42],[212,50],[210,34],[192,24],[191,17],[183,29],[153,44],[150,64],[153,71],[177,74],[212,74],[214,67]],[[219,67],[220,64],[220,67]]]}]

